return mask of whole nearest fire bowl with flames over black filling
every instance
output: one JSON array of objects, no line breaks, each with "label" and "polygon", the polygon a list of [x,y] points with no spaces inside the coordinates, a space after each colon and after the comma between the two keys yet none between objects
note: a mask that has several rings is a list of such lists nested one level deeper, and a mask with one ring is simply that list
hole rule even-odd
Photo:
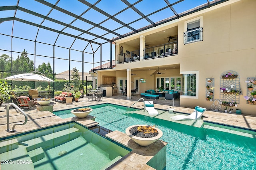
[{"label": "whole nearest fire bowl with flames over black filling", "polygon": [[148,146],[163,135],[159,128],[148,125],[132,125],[126,128],[125,132],[140,146]]}]

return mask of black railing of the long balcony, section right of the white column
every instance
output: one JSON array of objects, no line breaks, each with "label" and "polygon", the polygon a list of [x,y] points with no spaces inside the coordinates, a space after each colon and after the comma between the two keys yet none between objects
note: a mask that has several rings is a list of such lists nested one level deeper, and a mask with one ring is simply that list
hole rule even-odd
[{"label": "black railing of the long balcony, section right of the white column", "polygon": [[178,54],[178,42],[166,43],[154,47],[144,49],[144,59],[153,59],[156,57],[164,57],[168,55]]}]

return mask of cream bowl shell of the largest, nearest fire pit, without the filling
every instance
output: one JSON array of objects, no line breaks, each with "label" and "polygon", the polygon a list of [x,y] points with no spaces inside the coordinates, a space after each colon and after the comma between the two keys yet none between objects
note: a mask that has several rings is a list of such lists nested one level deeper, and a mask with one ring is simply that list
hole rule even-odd
[{"label": "cream bowl shell of the largest, nearest fire pit, without the filling", "polygon": [[138,136],[134,136],[132,135],[129,131],[131,128],[133,127],[138,127],[138,126],[147,126],[147,125],[132,125],[128,128],[126,128],[125,132],[126,134],[134,141],[136,142],[138,145],[140,146],[148,146],[154,142],[156,142],[156,140],[158,140],[159,138],[161,138],[163,136],[163,132],[156,127],[152,127],[154,129],[156,129],[158,131],[158,135],[152,138],[142,138],[142,137],[138,137]]}]

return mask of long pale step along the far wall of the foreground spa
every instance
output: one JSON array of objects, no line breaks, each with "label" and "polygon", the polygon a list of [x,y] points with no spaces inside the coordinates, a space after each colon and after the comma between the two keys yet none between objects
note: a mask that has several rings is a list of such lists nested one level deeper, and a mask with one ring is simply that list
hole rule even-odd
[{"label": "long pale step along the far wall of the foreground spa", "polygon": [[68,128],[65,130],[61,130],[58,132],[54,132],[51,134],[47,134],[38,138],[34,138],[31,140],[27,140],[22,142],[26,145],[27,151],[34,150],[36,148],[52,148],[54,146],[58,146],[66,141],[72,140],[74,138],[78,138],[80,136],[78,132],[78,128]]}]

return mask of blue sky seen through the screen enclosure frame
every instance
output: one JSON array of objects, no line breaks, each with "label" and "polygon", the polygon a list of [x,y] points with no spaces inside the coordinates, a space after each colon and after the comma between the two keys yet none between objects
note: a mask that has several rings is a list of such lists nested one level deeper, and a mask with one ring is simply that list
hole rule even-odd
[{"label": "blue sky seen through the screen enclosure frame", "polygon": [[[176,0],[169,0],[170,3],[176,2]],[[55,4],[56,0],[46,0],[46,2],[49,2],[51,4]],[[89,3],[94,4],[97,2],[96,0],[88,0]],[[136,0],[128,0],[129,3],[133,4],[136,2]],[[191,8],[194,8],[200,4],[206,3],[207,0],[184,0],[181,3],[178,3],[174,5],[174,9],[176,10],[177,13],[184,12],[186,10],[189,10]],[[17,0],[0,0],[0,6],[15,6],[17,4]],[[149,5],[150,4],[150,5]],[[41,3],[34,1],[34,0],[20,0],[19,5],[22,8],[34,11],[36,13],[39,13],[41,15],[46,16],[48,12],[51,10],[50,7],[42,5]],[[81,2],[77,0],[60,0],[60,2],[57,4],[58,7],[67,10],[69,12],[72,12],[73,14],[76,15],[81,15],[82,12],[84,12],[86,9],[88,9],[88,6],[85,4],[82,4]],[[137,9],[140,10],[145,15],[148,15],[155,10],[158,10],[160,8],[163,8],[166,6],[166,3],[164,0],[143,0],[139,2],[138,4],[135,5]],[[127,5],[124,4],[120,0],[102,0],[96,4],[96,7],[108,12],[110,15],[115,15],[117,12],[127,8]],[[0,18],[8,18],[8,17],[13,17],[14,16],[15,10],[8,10],[8,11],[0,11]],[[170,10],[170,8],[166,8],[165,10],[158,12],[157,14],[153,14],[149,16],[148,18],[152,20],[153,22],[158,22],[160,20],[163,20],[165,18],[168,18],[170,16],[173,16],[174,13]],[[26,20],[29,22],[33,22],[36,24],[41,24],[43,21],[43,18],[39,18],[36,16],[33,16],[29,13],[22,12],[20,10],[17,10],[16,12],[16,17],[20,18],[22,20]],[[50,15],[48,16],[52,19],[58,20],[60,22],[70,24],[75,18],[72,16],[69,16],[67,14],[64,14],[58,10],[53,10]],[[87,20],[90,20],[96,24],[100,24],[102,21],[108,19],[108,17],[104,16],[103,14],[100,14],[96,10],[90,9],[88,12],[82,15],[82,18],[85,18]],[[125,24],[129,24],[133,20],[137,20],[141,18],[139,14],[134,12],[134,10],[128,8],[124,12],[118,14],[115,16],[116,19],[124,22]],[[0,33],[5,34],[5,35],[11,35],[12,34],[12,21],[5,21],[0,24]],[[147,26],[150,24],[148,21],[145,19],[139,20],[133,24],[130,24],[129,26],[139,29],[144,26]],[[14,21],[13,25],[13,36],[14,37],[19,37],[19,38],[24,38],[28,40],[23,40],[23,39],[18,39],[18,38],[13,38],[11,40],[10,37],[5,36],[5,35],[0,35],[0,55],[2,54],[8,54],[11,55],[10,52],[8,51],[3,51],[4,50],[13,50],[17,51],[13,53],[14,59],[20,55],[20,53],[25,49],[27,53],[30,53],[32,55],[28,55],[30,59],[34,60],[34,50],[36,49],[36,67],[38,65],[42,64],[43,62],[48,63],[50,62],[51,65],[53,65],[53,59],[51,58],[53,56],[53,44],[56,46],[61,46],[61,47],[66,47],[70,48],[71,47],[71,59],[76,60],[71,62],[71,69],[73,67],[76,67],[80,71],[82,71],[82,64],[77,62],[77,61],[82,61],[82,52],[79,52],[77,50],[83,51],[86,45],[88,45],[88,42],[84,42],[83,40],[76,39],[63,35],[63,34],[58,34],[56,32],[52,32],[49,30],[45,30],[43,28],[40,28],[38,31],[38,28],[36,26],[31,26],[29,24],[24,24],[22,22]],[[65,26],[61,24],[56,24],[54,22],[51,22],[49,20],[45,20],[42,24],[42,26],[46,26],[55,30],[62,30],[65,28]],[[93,28],[91,24],[85,23],[81,20],[76,20],[74,21],[71,26],[80,28],[82,30],[88,30],[89,32],[96,34],[96,35],[104,35],[104,38],[111,39],[112,37],[116,37],[116,35],[106,32],[105,30],[102,30],[100,28]],[[106,20],[100,26],[103,26],[109,30],[115,30],[117,28],[120,28],[122,25],[119,24],[118,22],[114,20]],[[63,32],[68,33],[68,34],[73,34],[73,35],[80,35],[82,32],[78,30],[74,30],[71,28],[66,28],[63,30]],[[118,34],[126,34],[128,32],[131,32],[129,28],[120,28],[116,30]],[[88,34],[82,34],[80,35],[81,38],[85,38],[88,40],[92,40],[96,37],[88,35]],[[33,42],[34,40],[38,42],[43,42],[43,43],[35,43]],[[74,41],[75,40],[75,41]],[[12,47],[11,47],[11,41],[12,41]],[[102,39],[96,39],[94,40],[95,42],[98,43],[103,43],[106,42],[105,40]],[[61,47],[55,47],[54,52],[55,52],[55,72],[58,74],[62,71],[68,70],[68,61],[66,60],[61,60],[58,58],[64,58],[68,59],[69,57],[69,50],[66,48],[61,48]],[[92,63],[92,51],[96,51],[98,48],[98,45],[92,44],[88,45],[88,47],[85,49],[84,53],[84,62]],[[74,50],[73,50],[74,49]],[[113,46],[113,59],[114,59],[114,46]],[[47,56],[47,57],[41,57],[40,55]],[[109,60],[110,59],[110,43],[106,43],[102,45],[102,60]],[[96,51],[94,54],[94,63],[100,61],[100,50]],[[100,63],[95,63],[94,67],[100,65]],[[84,64],[84,72],[88,72],[90,69],[92,69],[92,64]]]}]

